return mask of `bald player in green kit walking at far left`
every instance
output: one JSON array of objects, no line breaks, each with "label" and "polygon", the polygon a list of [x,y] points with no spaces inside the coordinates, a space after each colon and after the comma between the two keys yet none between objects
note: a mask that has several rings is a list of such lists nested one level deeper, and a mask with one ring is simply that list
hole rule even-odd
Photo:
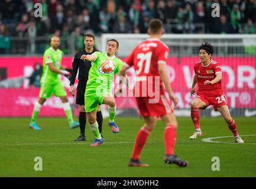
[{"label": "bald player in green kit walking at far left", "polygon": [[59,37],[52,37],[51,47],[44,52],[41,89],[39,100],[37,103],[35,103],[31,117],[31,129],[41,130],[41,128],[36,123],[37,116],[41,107],[43,106],[43,103],[46,102],[46,99],[50,98],[53,94],[57,97],[60,97],[60,100],[63,103],[64,112],[66,113],[67,119],[69,120],[70,128],[76,128],[79,126],[79,123],[75,122],[73,119],[72,110],[67,100],[66,90],[61,84],[61,80],[59,78],[59,74],[61,74],[70,80],[70,75],[64,73],[61,70],[71,71],[70,69],[66,69],[66,67],[61,66],[62,51],[58,49],[59,45]]}]

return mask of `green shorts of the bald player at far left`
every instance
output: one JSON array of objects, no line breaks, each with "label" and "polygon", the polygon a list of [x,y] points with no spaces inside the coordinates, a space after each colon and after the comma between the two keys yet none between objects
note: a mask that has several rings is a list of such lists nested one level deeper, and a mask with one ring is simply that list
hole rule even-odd
[{"label": "green shorts of the bald player at far left", "polygon": [[41,89],[39,97],[42,99],[50,98],[52,95],[55,96],[67,96],[66,90],[64,89],[61,80],[58,79],[57,82],[53,83],[41,83]]}]

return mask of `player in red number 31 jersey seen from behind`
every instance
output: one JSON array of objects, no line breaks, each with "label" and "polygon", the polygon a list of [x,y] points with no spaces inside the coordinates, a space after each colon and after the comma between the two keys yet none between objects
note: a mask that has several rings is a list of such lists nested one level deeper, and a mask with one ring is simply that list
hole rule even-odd
[{"label": "player in red number 31 jersey seen from behind", "polygon": [[[166,164],[174,163],[180,167],[187,167],[189,162],[179,159],[173,152],[178,123],[173,113],[173,108],[164,94],[163,84],[174,105],[177,105],[178,99],[171,89],[167,74],[166,61],[169,49],[160,41],[161,35],[163,34],[163,22],[160,19],[152,19],[149,24],[148,34],[150,38],[134,48],[119,73],[119,76],[123,76],[121,78],[124,79],[125,71],[129,67],[134,66],[136,73],[134,95],[137,100],[138,109],[145,122],[144,126],[137,133],[132,157],[128,166],[148,166],[140,161],[140,154],[148,136],[156,125],[157,116],[161,116],[161,119],[166,124],[164,131],[166,146],[164,160]],[[123,82],[120,79],[120,88]]]}]

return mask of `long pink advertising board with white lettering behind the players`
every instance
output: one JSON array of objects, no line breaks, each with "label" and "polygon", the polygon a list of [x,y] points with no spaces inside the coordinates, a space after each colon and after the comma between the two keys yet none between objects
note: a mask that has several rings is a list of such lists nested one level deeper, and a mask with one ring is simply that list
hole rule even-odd
[{"label": "long pink advertising board with white lettering behind the players", "polygon": [[[124,59],[125,60],[125,59]],[[170,57],[167,68],[171,86],[179,98],[180,109],[190,107],[190,86],[193,80],[193,64],[197,57]],[[215,57],[213,60],[222,66],[222,86],[231,108],[256,108],[256,57]],[[28,77],[34,69],[35,63],[42,64],[42,57],[0,57],[0,70],[5,70],[7,80]],[[72,57],[64,57],[62,65],[71,67]],[[157,69],[157,68],[156,68]],[[129,76],[134,74],[129,70]],[[66,90],[69,89],[69,81],[61,77]],[[0,77],[0,82],[1,77]],[[115,80],[116,86],[117,80]],[[34,103],[38,99],[39,89],[28,86],[26,79],[18,88],[0,87],[0,117],[5,116],[31,116]],[[69,102],[75,103],[75,99],[69,96]],[[117,97],[116,103],[120,109],[136,109],[133,97]],[[64,116],[60,99],[52,97],[48,99],[41,109],[40,116]]]}]

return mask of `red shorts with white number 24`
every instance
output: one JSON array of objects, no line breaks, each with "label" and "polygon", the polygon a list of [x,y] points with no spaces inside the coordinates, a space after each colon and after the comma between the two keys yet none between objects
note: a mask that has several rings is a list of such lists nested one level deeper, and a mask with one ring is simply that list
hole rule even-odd
[{"label": "red shorts with white number 24", "polygon": [[199,98],[203,102],[206,103],[206,107],[213,105],[213,109],[217,111],[217,107],[221,107],[223,105],[228,106],[228,103],[226,102],[226,96],[224,94],[220,94],[219,96],[206,96],[203,94],[199,94],[196,96],[196,98]]}]

